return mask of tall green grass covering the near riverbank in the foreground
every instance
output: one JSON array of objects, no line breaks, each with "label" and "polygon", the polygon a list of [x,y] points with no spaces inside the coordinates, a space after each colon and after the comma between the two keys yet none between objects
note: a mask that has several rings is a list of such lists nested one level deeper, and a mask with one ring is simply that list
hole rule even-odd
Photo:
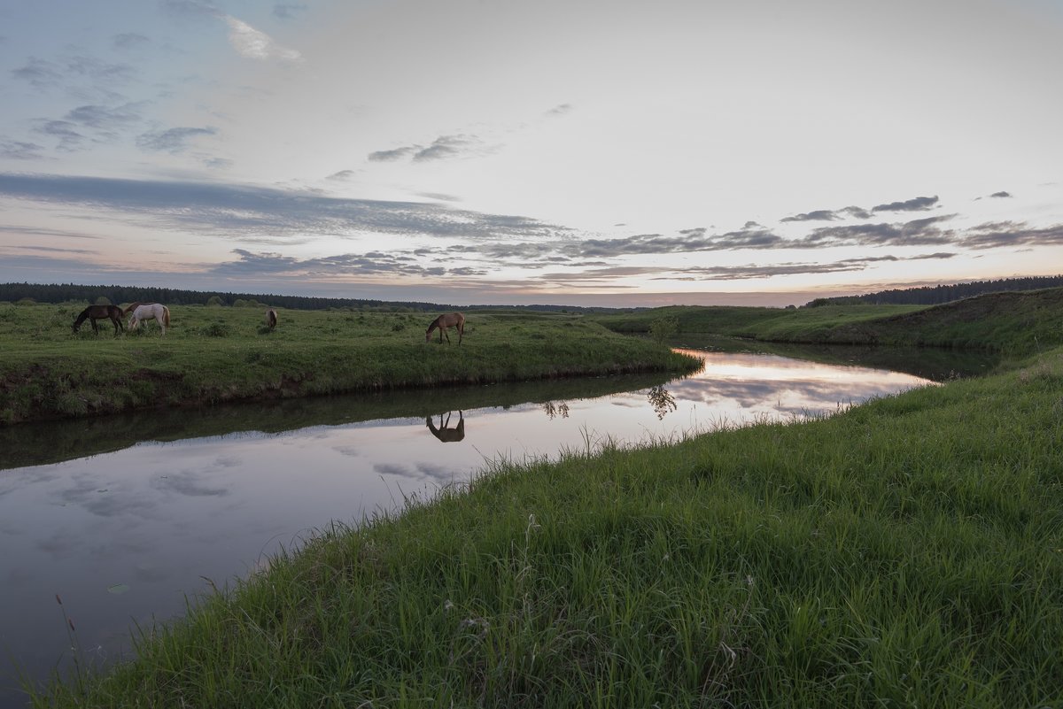
[{"label": "tall green grass covering the near riverbank in the foreground", "polygon": [[806,423],[496,463],[35,706],[1063,706],[1063,350]]}]

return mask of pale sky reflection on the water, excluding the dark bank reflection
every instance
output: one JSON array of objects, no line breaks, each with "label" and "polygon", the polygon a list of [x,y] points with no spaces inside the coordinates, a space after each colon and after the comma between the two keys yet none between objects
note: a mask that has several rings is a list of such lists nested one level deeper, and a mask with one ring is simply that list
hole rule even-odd
[{"label": "pale sky reflection on the water, excluding the dark bank reflection", "polygon": [[[445,443],[412,417],[142,443],[4,470],[0,654],[46,674],[69,657],[65,610],[88,657],[113,659],[129,646],[132,621],[182,612],[186,595],[208,589],[205,578],[223,585],[330,520],[394,511],[489,461],[832,412],[927,383],[775,356],[694,353],[705,368],[664,385],[674,409],[663,413],[639,390],[465,411],[463,437]],[[446,412],[435,413],[437,426],[440,413],[445,422]],[[458,416],[452,413],[452,429]],[[19,706],[13,673],[0,667],[0,706]]]}]

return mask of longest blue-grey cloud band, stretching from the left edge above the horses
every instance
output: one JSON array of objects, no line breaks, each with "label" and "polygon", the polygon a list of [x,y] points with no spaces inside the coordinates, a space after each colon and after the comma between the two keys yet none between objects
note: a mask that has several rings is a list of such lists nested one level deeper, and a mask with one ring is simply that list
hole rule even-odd
[{"label": "longest blue-grey cloud band, stretching from the left edge above the horses", "polygon": [[[155,141],[165,146],[167,139]],[[179,143],[180,144],[180,143]],[[162,149],[162,148],[161,148]],[[0,197],[102,209],[158,228],[238,239],[305,241],[315,236],[393,234],[466,239],[557,239],[570,229],[524,217],[422,202],[330,197],[217,183],[0,173]]]}]

